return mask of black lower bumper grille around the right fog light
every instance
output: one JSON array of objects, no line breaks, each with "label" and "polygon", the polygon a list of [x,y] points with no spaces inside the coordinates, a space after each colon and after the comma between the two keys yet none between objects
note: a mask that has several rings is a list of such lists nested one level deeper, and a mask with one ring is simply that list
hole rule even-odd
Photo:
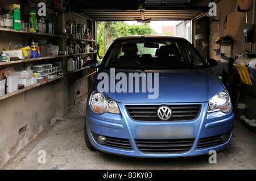
[{"label": "black lower bumper grille around the right fog light", "polygon": [[[226,141],[229,140],[232,132],[226,133]],[[209,148],[212,146],[217,146],[224,144],[226,141],[220,141],[220,135],[217,136],[211,136],[211,137],[205,137],[205,138],[200,138],[199,144],[197,146],[197,149],[203,149],[203,148]]]}]

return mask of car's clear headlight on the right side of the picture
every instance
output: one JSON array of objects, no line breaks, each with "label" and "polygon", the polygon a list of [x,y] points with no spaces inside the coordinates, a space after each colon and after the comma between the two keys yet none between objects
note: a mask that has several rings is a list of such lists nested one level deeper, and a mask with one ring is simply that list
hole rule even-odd
[{"label": "car's clear headlight on the right side of the picture", "polygon": [[227,113],[231,110],[232,103],[230,100],[229,92],[222,90],[217,95],[214,95],[212,99],[209,100],[208,113],[222,111]]}]

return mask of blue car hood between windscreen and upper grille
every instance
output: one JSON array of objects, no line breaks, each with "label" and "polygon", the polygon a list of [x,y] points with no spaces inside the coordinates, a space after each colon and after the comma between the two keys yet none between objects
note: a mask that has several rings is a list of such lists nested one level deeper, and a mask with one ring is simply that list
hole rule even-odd
[{"label": "blue car hood between windscreen and upper grille", "polygon": [[[143,78],[135,81],[135,78],[132,79],[129,75],[142,75]],[[125,82],[121,80],[126,81],[127,89]],[[119,103],[208,102],[224,88],[220,79],[209,68],[143,72],[100,69],[93,86],[93,90],[103,92]]]}]

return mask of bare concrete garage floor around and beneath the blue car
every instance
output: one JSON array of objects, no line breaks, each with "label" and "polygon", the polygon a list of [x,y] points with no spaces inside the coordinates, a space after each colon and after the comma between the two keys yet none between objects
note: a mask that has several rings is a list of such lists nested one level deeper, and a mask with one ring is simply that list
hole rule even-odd
[{"label": "bare concrete garage floor around and beneath the blue car", "polygon": [[[169,169],[256,169],[256,132],[235,121],[232,142],[217,153],[217,163],[208,162],[209,155],[189,158],[130,158],[90,151],[84,142],[86,99],[82,100],[46,131],[39,134],[1,169],[45,170],[169,170]],[[38,163],[46,151],[46,163]]]}]

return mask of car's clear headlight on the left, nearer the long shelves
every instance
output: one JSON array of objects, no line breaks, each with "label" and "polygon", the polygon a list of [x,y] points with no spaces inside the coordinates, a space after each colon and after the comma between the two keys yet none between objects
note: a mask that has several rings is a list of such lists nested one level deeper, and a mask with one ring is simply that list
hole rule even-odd
[{"label": "car's clear headlight on the left, nearer the long shelves", "polygon": [[98,114],[104,112],[120,113],[117,102],[98,91],[93,91],[90,95],[89,106],[94,113]]}]

